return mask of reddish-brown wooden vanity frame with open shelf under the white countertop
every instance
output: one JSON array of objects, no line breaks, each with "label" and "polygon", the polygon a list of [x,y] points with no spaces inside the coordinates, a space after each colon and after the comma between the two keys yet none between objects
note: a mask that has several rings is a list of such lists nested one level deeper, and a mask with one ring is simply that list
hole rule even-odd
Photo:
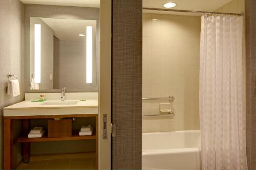
[{"label": "reddish-brown wooden vanity frame with open shelf under the white countertop", "polygon": [[[46,118],[75,118],[75,117],[94,117],[95,128],[91,136],[79,136],[79,131],[72,131],[70,137],[48,137],[47,133],[41,138],[28,138],[30,131],[31,119]],[[23,135],[18,138],[12,136],[12,124],[14,119],[23,120]],[[95,139],[96,144],[96,168],[98,166],[98,114],[66,114],[66,115],[33,115],[33,116],[4,116],[4,169],[13,169],[12,155],[13,144],[16,142],[23,143],[23,162],[30,160],[30,143],[43,141],[64,141],[64,140],[87,140]]]}]

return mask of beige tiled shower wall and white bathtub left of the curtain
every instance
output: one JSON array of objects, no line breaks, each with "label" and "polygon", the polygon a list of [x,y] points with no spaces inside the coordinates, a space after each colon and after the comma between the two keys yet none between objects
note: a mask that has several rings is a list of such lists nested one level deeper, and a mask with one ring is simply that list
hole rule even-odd
[{"label": "beige tiled shower wall and white bathtub left of the curtain", "polygon": [[200,30],[199,16],[143,13],[143,168],[200,169]]}]

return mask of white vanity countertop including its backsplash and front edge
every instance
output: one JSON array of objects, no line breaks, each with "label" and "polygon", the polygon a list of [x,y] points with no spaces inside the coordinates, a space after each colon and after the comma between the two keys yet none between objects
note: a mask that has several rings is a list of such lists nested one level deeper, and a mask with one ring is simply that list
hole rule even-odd
[{"label": "white vanity countertop including its backsplash and front edge", "polygon": [[[4,108],[4,116],[98,114],[98,93],[96,92],[66,93],[67,100],[63,103],[69,104],[65,105],[60,100],[60,93],[46,93],[46,101],[32,102],[38,99],[38,96],[39,93],[26,93],[25,101]],[[86,101],[79,99],[86,99]]]}]

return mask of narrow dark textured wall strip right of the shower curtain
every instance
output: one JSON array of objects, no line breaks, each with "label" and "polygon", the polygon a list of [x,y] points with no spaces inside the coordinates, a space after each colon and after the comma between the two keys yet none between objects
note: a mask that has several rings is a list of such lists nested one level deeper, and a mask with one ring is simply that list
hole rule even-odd
[{"label": "narrow dark textured wall strip right of the shower curtain", "polygon": [[256,1],[246,0],[246,152],[256,169]]}]

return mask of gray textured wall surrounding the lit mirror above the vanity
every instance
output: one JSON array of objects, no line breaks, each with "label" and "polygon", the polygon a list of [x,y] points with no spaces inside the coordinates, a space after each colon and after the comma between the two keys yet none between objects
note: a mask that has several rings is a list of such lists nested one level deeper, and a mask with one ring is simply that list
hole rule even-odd
[{"label": "gray textured wall surrounding the lit mirror above the vanity", "polygon": [[[24,61],[24,87],[25,92],[60,92],[60,90],[30,90],[30,72],[29,72],[29,25],[30,17],[59,18],[59,19],[91,19],[97,21],[97,35],[99,35],[99,8],[52,6],[52,5],[34,5],[25,4],[25,61]],[[96,70],[98,70],[99,56],[99,36],[96,39]],[[96,71],[97,83],[93,89],[67,89],[67,92],[88,92],[98,91],[98,71]]]}]

